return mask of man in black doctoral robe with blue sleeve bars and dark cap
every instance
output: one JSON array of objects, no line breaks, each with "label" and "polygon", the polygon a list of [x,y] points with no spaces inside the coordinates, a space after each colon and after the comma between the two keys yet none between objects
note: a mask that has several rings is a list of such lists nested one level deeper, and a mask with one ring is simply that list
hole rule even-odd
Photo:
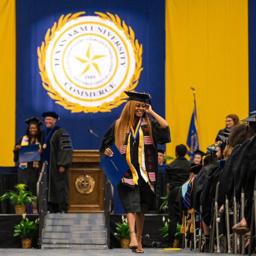
[{"label": "man in black doctoral robe with blue sleeve bars and dark cap", "polygon": [[73,147],[67,132],[55,126],[59,115],[45,112],[46,129],[41,135],[42,162],[47,161],[48,205],[52,213],[67,213],[68,168],[72,163]]}]

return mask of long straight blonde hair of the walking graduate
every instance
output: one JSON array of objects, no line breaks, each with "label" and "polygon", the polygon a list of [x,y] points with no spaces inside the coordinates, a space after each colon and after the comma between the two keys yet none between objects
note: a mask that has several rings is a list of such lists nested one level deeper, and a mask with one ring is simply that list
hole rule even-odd
[{"label": "long straight blonde hair of the walking graduate", "polygon": [[[133,122],[135,119],[136,103],[137,101],[128,101],[124,106],[119,119],[117,119],[115,122],[115,145],[119,149],[125,143],[127,129],[130,129],[130,126],[133,125]],[[145,119],[148,123],[147,124],[148,132],[149,132],[151,141],[154,145],[151,123],[149,121],[147,113],[145,113]]]}]

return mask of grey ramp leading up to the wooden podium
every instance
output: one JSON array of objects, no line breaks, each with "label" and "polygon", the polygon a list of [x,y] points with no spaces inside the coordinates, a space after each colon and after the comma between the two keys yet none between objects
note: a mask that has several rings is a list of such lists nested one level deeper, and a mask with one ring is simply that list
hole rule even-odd
[{"label": "grey ramp leading up to the wooden podium", "polygon": [[104,213],[47,214],[41,249],[107,249]]}]

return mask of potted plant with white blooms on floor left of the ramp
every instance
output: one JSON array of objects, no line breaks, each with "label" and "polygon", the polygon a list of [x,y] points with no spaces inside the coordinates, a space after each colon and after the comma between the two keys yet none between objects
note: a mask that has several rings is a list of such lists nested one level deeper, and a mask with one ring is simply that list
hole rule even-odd
[{"label": "potted plant with white blooms on floor left of the ramp", "polygon": [[14,226],[13,236],[20,236],[22,248],[32,247],[32,236],[38,227],[38,222],[39,218],[35,221],[29,221],[26,217],[26,213],[23,213],[20,224]]}]

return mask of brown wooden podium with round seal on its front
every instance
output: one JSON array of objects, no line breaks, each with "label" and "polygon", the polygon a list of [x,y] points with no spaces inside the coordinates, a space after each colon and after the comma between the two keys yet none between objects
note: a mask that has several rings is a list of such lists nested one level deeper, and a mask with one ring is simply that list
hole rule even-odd
[{"label": "brown wooden podium with round seal on its front", "polygon": [[99,150],[74,150],[68,170],[68,213],[104,212],[104,174]]}]

